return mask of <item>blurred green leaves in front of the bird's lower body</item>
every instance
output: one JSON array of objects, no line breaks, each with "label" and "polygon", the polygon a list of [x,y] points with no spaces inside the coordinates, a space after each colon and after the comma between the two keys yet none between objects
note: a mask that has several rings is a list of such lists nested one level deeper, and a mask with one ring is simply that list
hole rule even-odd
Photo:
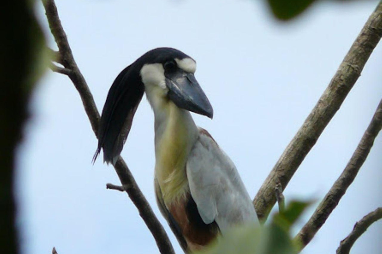
[{"label": "blurred green leaves in front of the bird's lower body", "polygon": [[194,254],[297,254],[291,226],[312,202],[291,201],[265,226],[244,225],[219,237],[206,250]]}]

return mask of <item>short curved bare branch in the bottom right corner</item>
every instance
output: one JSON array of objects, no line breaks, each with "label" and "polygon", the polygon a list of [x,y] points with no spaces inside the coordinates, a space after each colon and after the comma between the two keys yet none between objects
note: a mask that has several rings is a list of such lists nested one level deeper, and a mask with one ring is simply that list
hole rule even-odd
[{"label": "short curved bare branch in the bottom right corner", "polygon": [[340,246],[337,249],[337,254],[349,254],[350,249],[353,247],[357,239],[366,232],[370,225],[380,219],[382,219],[382,207],[377,208],[375,211],[363,217],[354,225],[352,232],[341,241]]}]

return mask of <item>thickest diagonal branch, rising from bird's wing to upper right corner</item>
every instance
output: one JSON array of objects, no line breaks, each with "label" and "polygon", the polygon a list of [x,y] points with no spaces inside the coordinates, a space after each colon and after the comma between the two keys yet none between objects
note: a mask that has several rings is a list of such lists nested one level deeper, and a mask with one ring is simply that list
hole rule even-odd
[{"label": "thickest diagonal branch, rising from bird's wing to upper right corner", "polygon": [[258,191],[253,203],[259,219],[265,220],[276,202],[275,186],[279,179],[285,189],[289,180],[316,143],[322,131],[340,108],[382,36],[382,2],[369,17],[348,54],[306,118],[271,173]]}]

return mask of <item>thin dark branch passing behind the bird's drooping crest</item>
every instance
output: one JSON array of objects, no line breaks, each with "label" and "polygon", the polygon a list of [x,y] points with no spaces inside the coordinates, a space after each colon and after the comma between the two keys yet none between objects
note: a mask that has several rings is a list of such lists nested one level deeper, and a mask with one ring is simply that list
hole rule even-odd
[{"label": "thin dark branch passing behind the bird's drooping crest", "polygon": [[[72,51],[69,46],[68,39],[66,37],[65,31],[61,25],[61,21],[58,16],[57,7],[54,0],[42,0],[46,16],[49,22],[51,32],[57,43],[59,53],[60,53],[60,64],[64,65],[65,69],[69,70],[67,74],[75,85],[77,91],[79,92],[86,114],[90,120],[93,131],[97,135],[99,113],[95,106],[93,95],[85,81],[85,78],[81,74],[81,71],[77,67],[77,64],[73,58]],[[66,71],[65,71],[66,72]],[[139,189],[137,183],[134,180],[129,168],[123,161],[122,157],[119,156],[114,169],[121,181],[125,191],[128,193],[130,199],[133,201],[137,207],[140,216],[146,223],[147,227],[151,231],[154,239],[157,243],[159,251],[162,254],[174,254],[171,242],[164,230],[162,224],[158,221],[153,210],[151,209],[149,203],[147,202],[145,196]]]}]

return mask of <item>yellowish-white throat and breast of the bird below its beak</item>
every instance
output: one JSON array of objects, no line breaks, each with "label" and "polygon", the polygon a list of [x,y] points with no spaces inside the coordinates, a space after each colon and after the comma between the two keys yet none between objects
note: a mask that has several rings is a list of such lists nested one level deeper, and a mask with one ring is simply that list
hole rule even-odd
[{"label": "yellowish-white throat and breast of the bird below its beak", "polygon": [[197,133],[191,114],[171,101],[155,114],[155,174],[166,204],[183,198],[189,189],[186,162]]}]

